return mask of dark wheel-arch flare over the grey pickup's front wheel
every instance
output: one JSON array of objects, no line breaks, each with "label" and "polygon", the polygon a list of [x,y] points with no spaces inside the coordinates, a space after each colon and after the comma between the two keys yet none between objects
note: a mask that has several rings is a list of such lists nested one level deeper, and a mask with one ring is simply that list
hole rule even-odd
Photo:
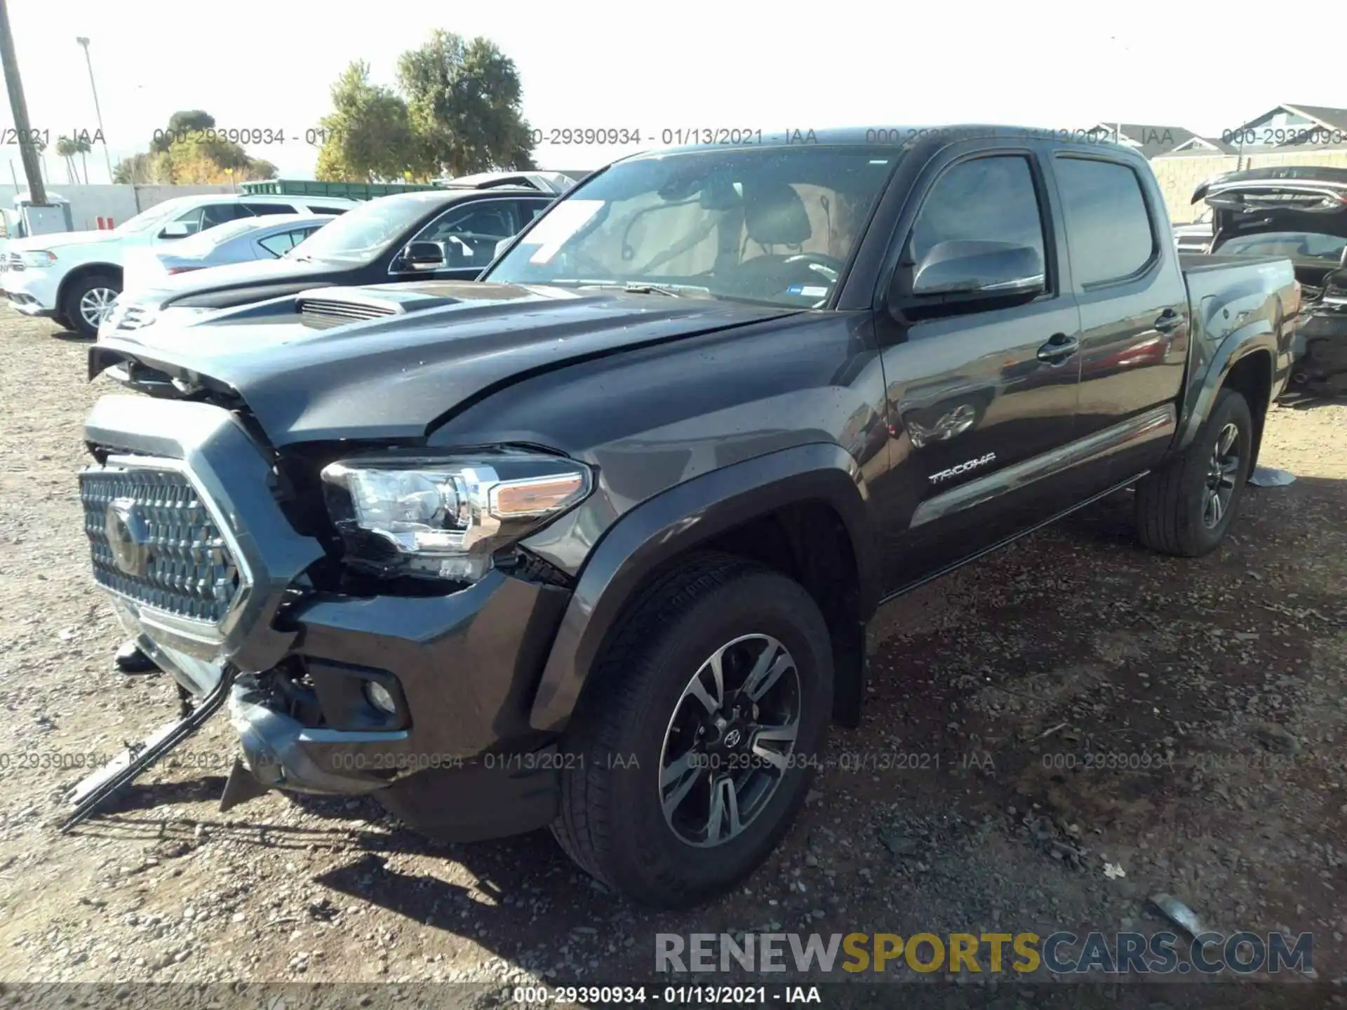
[{"label": "dark wheel-arch flare over the grey pickup's front wheel", "polygon": [[614,523],[590,553],[562,617],[529,716],[560,731],[622,606],[660,564],[783,506],[824,502],[841,516],[859,574],[862,619],[878,601],[878,567],[867,490],[855,459],[811,443],[721,467],[649,498]]}]

